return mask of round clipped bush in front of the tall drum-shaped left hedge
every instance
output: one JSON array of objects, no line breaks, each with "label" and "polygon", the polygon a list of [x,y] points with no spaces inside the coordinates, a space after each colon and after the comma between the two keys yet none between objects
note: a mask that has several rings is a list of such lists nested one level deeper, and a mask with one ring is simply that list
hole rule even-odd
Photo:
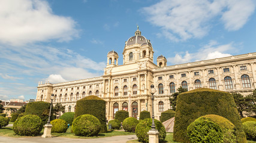
[{"label": "round clipped bush in front of the tall drum-shaped left hedge", "polygon": [[79,136],[97,136],[101,130],[101,123],[90,114],[84,114],[74,119],[72,130]]}]

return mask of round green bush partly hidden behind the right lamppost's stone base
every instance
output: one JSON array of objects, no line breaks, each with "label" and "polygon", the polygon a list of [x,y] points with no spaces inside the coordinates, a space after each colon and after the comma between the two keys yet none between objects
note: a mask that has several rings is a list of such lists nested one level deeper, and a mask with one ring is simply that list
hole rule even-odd
[{"label": "round green bush partly hidden behind the right lamppost's stone base", "polygon": [[[156,119],[154,120],[154,122],[155,122],[156,129],[159,132],[159,136],[158,136],[159,141],[162,142],[164,141],[166,136],[164,125],[162,125],[162,123]],[[138,141],[149,142],[149,135],[147,134],[147,132],[149,132],[149,130],[151,129],[151,125],[152,125],[152,119],[150,118],[141,120],[140,123],[138,123],[135,130]]]}]

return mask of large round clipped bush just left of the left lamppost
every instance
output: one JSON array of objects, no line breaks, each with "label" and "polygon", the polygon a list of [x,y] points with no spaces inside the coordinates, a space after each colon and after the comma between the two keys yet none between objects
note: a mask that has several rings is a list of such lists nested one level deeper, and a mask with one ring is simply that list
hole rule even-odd
[{"label": "large round clipped bush just left of the left lamppost", "polygon": [[36,136],[43,129],[43,122],[36,115],[25,115],[13,124],[13,131],[22,136]]}]

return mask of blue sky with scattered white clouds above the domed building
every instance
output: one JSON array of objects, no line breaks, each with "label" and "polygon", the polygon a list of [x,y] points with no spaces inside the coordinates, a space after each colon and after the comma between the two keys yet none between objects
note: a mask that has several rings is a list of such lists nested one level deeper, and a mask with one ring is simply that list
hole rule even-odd
[{"label": "blue sky with scattered white clouds above the domed building", "polygon": [[0,0],[0,100],[35,99],[38,82],[103,75],[107,52],[150,39],[167,66],[256,52],[255,0]]}]

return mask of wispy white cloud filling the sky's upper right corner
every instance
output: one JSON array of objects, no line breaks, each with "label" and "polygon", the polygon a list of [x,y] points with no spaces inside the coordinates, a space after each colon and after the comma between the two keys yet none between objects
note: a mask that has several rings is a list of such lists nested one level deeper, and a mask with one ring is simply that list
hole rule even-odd
[{"label": "wispy white cloud filling the sky's upper right corner", "polygon": [[[163,35],[172,41],[201,38],[209,32],[212,21],[220,20],[227,30],[238,30],[254,13],[253,0],[162,0],[141,11],[147,21],[162,29]],[[218,22],[218,21],[217,21]]]}]

